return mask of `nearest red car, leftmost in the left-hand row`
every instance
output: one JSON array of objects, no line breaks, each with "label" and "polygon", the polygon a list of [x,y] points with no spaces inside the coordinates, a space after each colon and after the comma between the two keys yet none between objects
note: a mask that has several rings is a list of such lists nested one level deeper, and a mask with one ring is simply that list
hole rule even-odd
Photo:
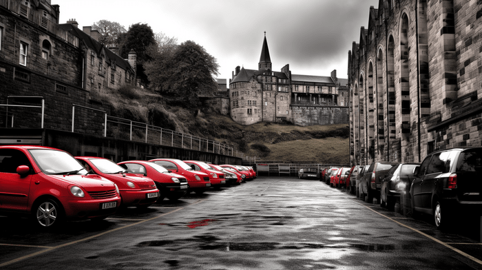
[{"label": "nearest red car, leftmost in the left-hand row", "polygon": [[32,145],[0,146],[0,212],[29,215],[41,228],[66,219],[103,219],[121,204],[117,186],[69,153]]}]

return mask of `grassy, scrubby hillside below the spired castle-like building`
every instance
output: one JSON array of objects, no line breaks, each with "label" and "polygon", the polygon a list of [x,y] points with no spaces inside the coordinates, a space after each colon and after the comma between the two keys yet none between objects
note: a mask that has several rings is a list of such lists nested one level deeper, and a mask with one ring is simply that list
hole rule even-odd
[{"label": "grassy, scrubby hillside below the spired castle-like building", "polygon": [[168,104],[163,96],[142,89],[121,89],[97,96],[112,105],[114,116],[174,129],[233,145],[245,156],[284,163],[348,163],[348,125],[299,127],[275,123],[244,126],[211,110]]}]

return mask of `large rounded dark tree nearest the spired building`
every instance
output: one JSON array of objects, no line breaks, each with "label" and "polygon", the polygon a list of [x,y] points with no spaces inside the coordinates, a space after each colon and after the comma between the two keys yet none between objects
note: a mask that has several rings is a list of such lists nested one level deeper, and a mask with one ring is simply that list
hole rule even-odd
[{"label": "large rounded dark tree nearest the spired building", "polygon": [[198,94],[212,94],[218,87],[216,59],[193,41],[181,43],[170,57],[156,57],[147,66],[151,87],[187,106],[198,106]]}]

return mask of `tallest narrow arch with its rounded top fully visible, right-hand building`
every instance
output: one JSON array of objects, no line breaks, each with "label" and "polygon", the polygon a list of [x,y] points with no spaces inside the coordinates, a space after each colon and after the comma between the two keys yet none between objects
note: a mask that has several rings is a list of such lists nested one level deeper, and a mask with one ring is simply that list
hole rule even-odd
[{"label": "tallest narrow arch with its rounded top fully visible, right-hand building", "polygon": [[410,107],[410,52],[408,48],[408,29],[410,20],[408,14],[403,12],[400,18],[400,90],[401,90],[401,133],[410,134],[410,112],[412,108]]}]

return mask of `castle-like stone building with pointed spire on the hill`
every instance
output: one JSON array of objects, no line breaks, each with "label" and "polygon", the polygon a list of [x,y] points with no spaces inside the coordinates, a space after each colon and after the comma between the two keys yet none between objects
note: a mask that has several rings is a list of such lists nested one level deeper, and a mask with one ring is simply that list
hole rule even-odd
[{"label": "castle-like stone building with pointed spire on the hill", "polygon": [[266,34],[258,70],[236,67],[229,83],[231,118],[258,122],[328,125],[348,123],[347,79],[291,74],[289,65],[272,70]]}]

